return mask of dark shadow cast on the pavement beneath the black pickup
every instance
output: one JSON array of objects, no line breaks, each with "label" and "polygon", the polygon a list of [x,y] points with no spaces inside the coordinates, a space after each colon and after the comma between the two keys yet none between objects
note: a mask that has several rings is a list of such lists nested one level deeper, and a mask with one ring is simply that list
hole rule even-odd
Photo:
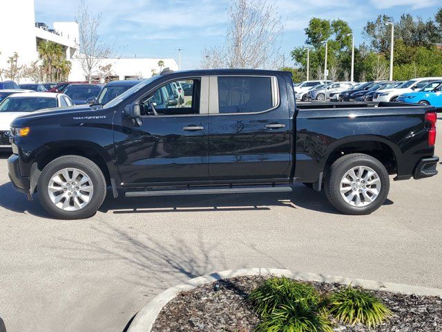
[{"label": "dark shadow cast on the pavement beneath the black pickup", "polygon": [[[387,199],[384,205],[391,205]],[[14,212],[28,212],[34,216],[51,219],[41,208],[37,194],[28,201],[25,195],[16,192],[11,183],[0,185],[0,206]],[[300,184],[293,186],[291,193],[265,194],[224,194],[224,195],[191,195],[191,196],[157,196],[142,198],[125,198],[120,195],[113,199],[108,192],[99,212],[113,214],[159,213],[159,212],[222,212],[222,211],[259,211],[271,210],[280,206],[291,209],[307,209],[316,212],[338,214],[329,204],[323,192],[315,192]]]}]

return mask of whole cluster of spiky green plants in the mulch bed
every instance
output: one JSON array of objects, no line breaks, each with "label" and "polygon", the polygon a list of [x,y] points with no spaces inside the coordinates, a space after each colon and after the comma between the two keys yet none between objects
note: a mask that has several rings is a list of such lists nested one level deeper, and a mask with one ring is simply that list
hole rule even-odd
[{"label": "whole cluster of spiky green plants in the mulch bed", "polygon": [[321,297],[311,284],[272,277],[251,291],[247,302],[260,315],[256,332],[332,332],[344,324],[381,324],[391,311],[374,295],[348,286]]}]

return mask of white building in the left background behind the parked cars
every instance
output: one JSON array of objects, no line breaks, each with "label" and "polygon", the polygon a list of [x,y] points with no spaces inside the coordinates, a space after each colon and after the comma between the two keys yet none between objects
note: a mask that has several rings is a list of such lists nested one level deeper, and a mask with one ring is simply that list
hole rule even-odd
[{"label": "white building in the left background behind the parked cars", "polygon": [[[8,67],[8,57],[19,55],[19,66],[30,64],[38,59],[37,45],[41,41],[51,41],[60,44],[66,50],[66,59],[72,62],[69,75],[71,81],[86,79],[78,54],[79,32],[75,22],[54,22],[53,28],[35,21],[34,0],[1,0],[0,19],[0,69]],[[158,62],[162,60],[165,67],[177,70],[175,59],[135,58],[135,59],[104,59],[100,66],[111,64],[113,79],[124,80],[133,77],[151,77],[152,71],[160,71]],[[98,67],[98,66],[97,66]],[[93,75],[97,75],[95,68]],[[3,77],[5,80],[5,77]],[[28,82],[28,77],[21,78],[21,83]]]}]

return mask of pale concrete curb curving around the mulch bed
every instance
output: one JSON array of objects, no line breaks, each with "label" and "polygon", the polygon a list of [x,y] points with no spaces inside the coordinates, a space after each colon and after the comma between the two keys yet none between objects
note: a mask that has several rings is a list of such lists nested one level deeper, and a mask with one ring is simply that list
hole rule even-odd
[{"label": "pale concrete curb curving around the mulch bed", "polygon": [[394,284],[392,282],[376,282],[374,280],[365,279],[350,279],[335,275],[291,272],[291,270],[283,270],[280,268],[243,268],[240,270],[225,270],[218,273],[211,273],[210,275],[203,275],[201,277],[190,279],[184,284],[166,289],[166,291],[160,293],[148,302],[148,304],[135,315],[127,332],[150,332],[161,309],[182,291],[189,291],[202,284],[216,282],[220,279],[242,277],[246,275],[273,275],[276,277],[288,277],[304,282],[327,282],[329,284],[336,283],[342,285],[352,284],[352,286],[361,286],[372,291],[438,296],[442,298],[442,289],[439,288],[409,286],[405,284]]}]

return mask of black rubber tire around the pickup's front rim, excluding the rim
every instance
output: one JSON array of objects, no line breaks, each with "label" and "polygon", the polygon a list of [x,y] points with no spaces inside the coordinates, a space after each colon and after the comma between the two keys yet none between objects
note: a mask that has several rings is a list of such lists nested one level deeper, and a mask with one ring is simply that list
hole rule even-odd
[{"label": "black rubber tire around the pickup's front rim, excluding the rim", "polygon": [[[59,170],[74,167],[85,172],[93,184],[93,194],[84,208],[76,211],[66,211],[52,203],[48,194],[50,178]],[[44,167],[37,183],[38,196],[41,206],[57,219],[85,219],[93,216],[106,197],[106,179],[99,167],[92,160],[81,156],[61,156],[52,160]]]}]

